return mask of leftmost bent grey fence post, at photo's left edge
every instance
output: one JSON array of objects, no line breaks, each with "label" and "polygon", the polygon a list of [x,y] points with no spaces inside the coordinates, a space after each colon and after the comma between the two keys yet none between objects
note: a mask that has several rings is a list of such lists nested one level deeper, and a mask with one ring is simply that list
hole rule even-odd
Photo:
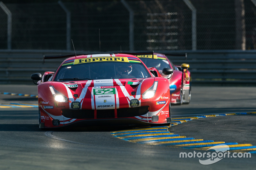
[{"label": "leftmost bent grey fence post, at photo's left edge", "polygon": [[12,49],[12,12],[1,1],[0,7],[7,14],[7,49]]}]

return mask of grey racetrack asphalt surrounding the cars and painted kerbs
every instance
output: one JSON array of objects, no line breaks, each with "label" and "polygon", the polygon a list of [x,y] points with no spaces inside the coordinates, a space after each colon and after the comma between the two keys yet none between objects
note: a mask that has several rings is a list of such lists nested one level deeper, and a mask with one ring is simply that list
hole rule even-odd
[{"label": "grey racetrack asphalt surrounding the cars and painted kerbs", "polygon": [[[30,96],[37,94],[36,85],[0,85],[0,92],[0,104],[37,104],[37,98]],[[38,108],[9,107],[0,108],[0,169],[255,169],[256,114],[245,115],[256,111],[254,92],[256,87],[193,87],[190,104],[172,106],[174,126],[164,127],[166,133],[200,140],[198,144],[201,141],[237,143],[238,152],[251,152],[251,158],[230,157],[202,165],[200,157],[181,158],[180,154],[213,155],[215,152],[206,151],[207,147],[177,145],[177,141],[172,141],[176,146],[154,145],[150,143],[152,139],[129,142],[127,138],[121,140],[113,135],[113,132],[120,135],[118,131],[130,131],[137,126],[67,127],[44,131],[38,128]],[[213,114],[220,116],[209,116]],[[179,120],[184,117],[190,117],[186,118],[190,121]],[[178,122],[180,124],[176,124]],[[241,150],[246,147],[251,150]],[[230,152],[236,152],[231,149],[237,150],[234,144]]]}]

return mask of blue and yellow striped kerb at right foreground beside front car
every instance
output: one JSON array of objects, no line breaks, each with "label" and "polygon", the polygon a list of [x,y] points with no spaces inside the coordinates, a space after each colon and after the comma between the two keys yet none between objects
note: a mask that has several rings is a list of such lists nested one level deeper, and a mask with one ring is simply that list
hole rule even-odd
[{"label": "blue and yellow striped kerb at right foreground beside front car", "polygon": [[[239,115],[239,114],[242,114],[242,115],[256,114],[256,112],[174,118],[172,119],[172,123],[170,126],[175,126],[177,124],[191,121],[193,119],[215,117],[215,116],[226,116],[226,115]],[[179,134],[173,134],[169,132],[167,126],[120,130],[120,131],[111,132],[111,134],[120,139],[131,141],[131,142],[137,142],[140,144],[151,144],[151,145],[160,145],[160,146],[168,146],[168,147],[198,149],[198,150],[205,150],[205,151],[211,148],[212,146],[225,144],[229,146],[230,152],[256,153],[256,146],[252,146],[252,144],[238,144],[236,142],[233,142],[233,143],[214,142],[213,140],[195,139],[193,137],[180,136]]]}]

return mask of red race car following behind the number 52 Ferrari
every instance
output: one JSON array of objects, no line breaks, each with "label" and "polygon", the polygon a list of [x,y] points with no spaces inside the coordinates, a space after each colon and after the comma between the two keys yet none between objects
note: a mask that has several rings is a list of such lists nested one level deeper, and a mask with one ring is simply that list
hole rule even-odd
[{"label": "red race car following behind the number 52 Ferrari", "polygon": [[[154,53],[152,55],[136,55],[147,67],[155,67],[160,74],[163,68],[172,68],[172,76],[163,77],[169,79],[171,104],[188,104],[191,100],[191,76],[188,71],[189,65],[186,63],[181,66],[174,65],[164,54]],[[184,55],[185,56],[185,55]]]}]

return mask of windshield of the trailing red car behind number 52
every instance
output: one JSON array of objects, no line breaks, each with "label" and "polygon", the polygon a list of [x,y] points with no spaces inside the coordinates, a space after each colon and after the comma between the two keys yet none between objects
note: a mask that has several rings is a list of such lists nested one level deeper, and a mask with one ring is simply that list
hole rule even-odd
[{"label": "windshield of the trailing red car behind number 52", "polygon": [[155,67],[158,71],[162,71],[164,68],[171,68],[167,60],[140,58],[147,67]]}]

